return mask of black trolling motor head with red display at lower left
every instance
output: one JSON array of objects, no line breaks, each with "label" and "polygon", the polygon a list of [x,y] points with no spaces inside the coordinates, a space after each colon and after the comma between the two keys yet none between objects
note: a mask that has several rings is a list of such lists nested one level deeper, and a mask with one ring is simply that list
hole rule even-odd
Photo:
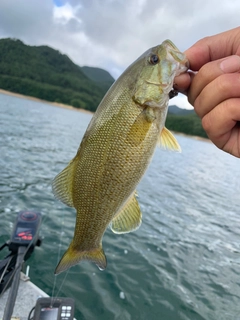
[{"label": "black trolling motor head with red display at lower left", "polygon": [[41,220],[42,215],[39,212],[20,211],[13,227],[9,250],[17,252],[20,246],[29,246],[31,251],[38,245]]}]

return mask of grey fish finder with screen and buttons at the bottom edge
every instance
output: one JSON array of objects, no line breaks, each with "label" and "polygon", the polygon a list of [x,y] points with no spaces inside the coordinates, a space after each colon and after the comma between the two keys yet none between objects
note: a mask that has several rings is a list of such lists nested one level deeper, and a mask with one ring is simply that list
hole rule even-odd
[{"label": "grey fish finder with screen and buttons at the bottom edge", "polygon": [[71,298],[39,298],[33,320],[73,320],[74,300]]}]

